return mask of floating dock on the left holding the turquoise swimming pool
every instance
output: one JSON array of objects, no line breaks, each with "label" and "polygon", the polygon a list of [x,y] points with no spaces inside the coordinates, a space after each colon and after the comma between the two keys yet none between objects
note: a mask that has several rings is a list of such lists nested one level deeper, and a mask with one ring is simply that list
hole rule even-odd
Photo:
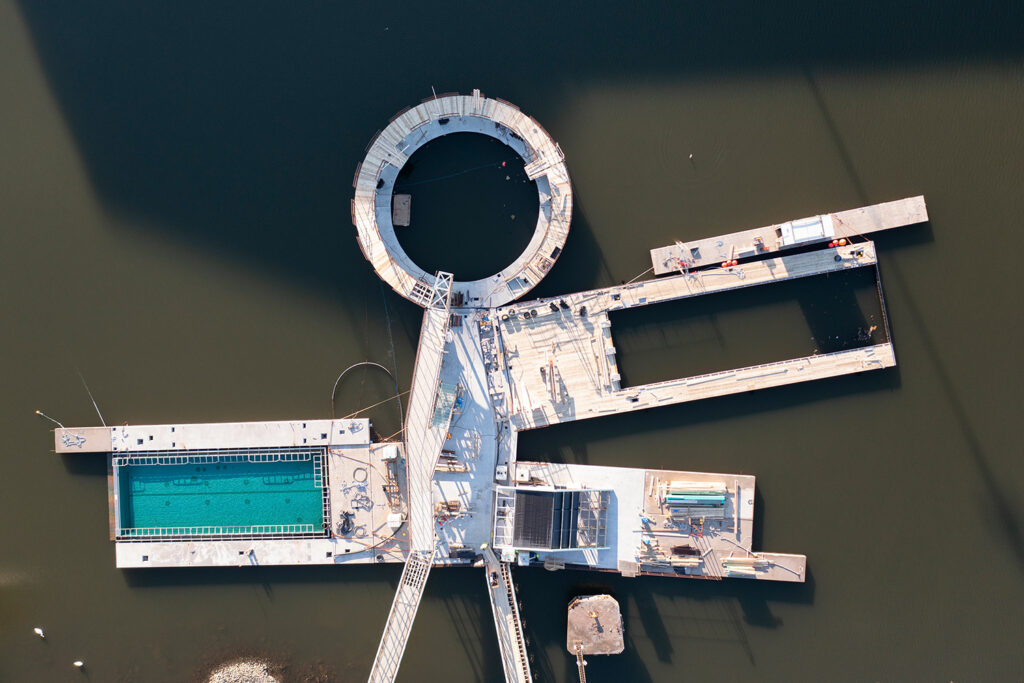
[{"label": "floating dock on the left holding the turquoise swimming pool", "polygon": [[[124,425],[57,429],[54,437],[57,453],[109,454],[120,568],[403,562],[408,555],[404,447],[373,443],[369,420]],[[232,489],[228,469],[240,465],[249,469]],[[289,507],[310,496],[311,507]],[[225,509],[232,500],[238,512]],[[254,504],[260,512],[278,505],[282,516],[247,522],[258,517],[248,511]],[[143,513],[146,525],[133,524]]]}]

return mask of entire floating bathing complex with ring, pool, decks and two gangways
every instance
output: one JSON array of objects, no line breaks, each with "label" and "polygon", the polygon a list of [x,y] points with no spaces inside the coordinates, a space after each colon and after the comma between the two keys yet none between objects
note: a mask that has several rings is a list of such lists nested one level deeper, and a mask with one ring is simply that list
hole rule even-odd
[{"label": "entire floating bathing complex with ring, pool, decks and two gangways", "polygon": [[[427,273],[394,231],[409,206],[393,201],[398,172],[452,132],[508,144],[541,206],[525,251],[474,282]],[[520,461],[518,434],[894,366],[884,314],[882,343],[626,387],[611,313],[858,268],[874,269],[882,296],[864,236],[926,221],[924,198],[677,242],[651,251],[652,280],[522,302],[561,253],[572,189],[560,147],[518,108],[479,90],[409,108],[374,136],[353,185],[362,254],[425,309],[402,440],[374,442],[368,420],[348,419],[60,427],[57,453],[110,459],[119,567],[403,562],[371,681],[397,675],[434,567],[484,570],[516,682],[531,673],[513,564],[805,581],[804,555],[753,548],[753,476]],[[584,676],[592,650],[573,651],[569,637]]]}]

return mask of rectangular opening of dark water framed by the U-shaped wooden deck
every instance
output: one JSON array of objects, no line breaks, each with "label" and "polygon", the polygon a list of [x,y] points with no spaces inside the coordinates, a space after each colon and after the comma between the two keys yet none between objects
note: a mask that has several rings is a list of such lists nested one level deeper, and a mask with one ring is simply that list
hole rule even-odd
[{"label": "rectangular opening of dark water framed by the U-shaped wooden deck", "polygon": [[874,267],[609,315],[624,388],[889,341]]}]

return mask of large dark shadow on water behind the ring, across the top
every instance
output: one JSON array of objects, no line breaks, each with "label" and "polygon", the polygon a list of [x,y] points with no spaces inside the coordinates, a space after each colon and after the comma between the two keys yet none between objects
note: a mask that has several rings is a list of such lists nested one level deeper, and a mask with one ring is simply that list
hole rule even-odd
[{"label": "large dark shadow on water behind the ring, across the top", "polygon": [[[423,5],[240,13],[189,2],[18,4],[111,214],[338,303],[375,279],[349,223],[352,173],[364,146],[394,112],[428,95],[431,83],[438,90],[478,85],[543,120],[568,101],[566,83],[1021,51],[1011,30],[1021,24],[1014,22],[1021,7],[957,3],[827,11],[814,3],[751,3],[741,12],[705,4],[667,8],[656,22],[644,12],[612,17],[546,5],[543,23],[530,12],[501,12],[499,36],[515,39],[497,50],[494,32],[459,29],[492,24],[495,10],[487,6],[464,8],[453,24]],[[923,11],[929,20],[921,20]],[[607,31],[609,25],[615,30]],[[605,36],[604,49],[565,59],[566,26],[581,36]],[[430,49],[446,33],[458,33],[459,47]],[[386,70],[382,83],[380,55],[389,50],[397,50],[403,67]],[[424,50],[429,60],[419,57]],[[458,82],[437,82],[450,74]],[[373,96],[360,96],[356,105],[357,93]],[[585,273],[601,260],[581,245],[585,222],[578,211],[562,258],[572,267],[556,268],[545,292],[592,282]]]}]

